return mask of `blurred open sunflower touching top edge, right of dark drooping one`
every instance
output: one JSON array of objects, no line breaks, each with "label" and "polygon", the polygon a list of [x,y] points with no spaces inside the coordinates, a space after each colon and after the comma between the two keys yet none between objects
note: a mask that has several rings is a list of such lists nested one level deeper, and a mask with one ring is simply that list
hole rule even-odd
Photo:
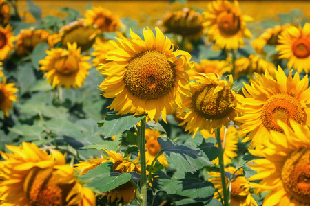
[{"label": "blurred open sunflower touching top edge, right of dark drooping one", "polygon": [[238,49],[245,45],[243,38],[251,38],[245,21],[252,18],[242,15],[238,1],[231,4],[229,1],[212,1],[209,3],[209,12],[203,12],[205,27],[209,41],[215,43],[214,49]]}]

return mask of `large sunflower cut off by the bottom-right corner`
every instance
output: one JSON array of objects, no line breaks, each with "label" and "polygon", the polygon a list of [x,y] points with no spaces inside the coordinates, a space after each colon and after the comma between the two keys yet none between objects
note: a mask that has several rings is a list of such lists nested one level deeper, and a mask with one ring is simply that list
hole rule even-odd
[{"label": "large sunflower cut off by the bottom-right corner", "polygon": [[262,157],[249,163],[258,174],[251,176],[257,192],[271,191],[262,205],[310,205],[310,131],[307,126],[291,121],[278,121],[284,133],[271,131],[273,137],[262,150],[249,150]]}]

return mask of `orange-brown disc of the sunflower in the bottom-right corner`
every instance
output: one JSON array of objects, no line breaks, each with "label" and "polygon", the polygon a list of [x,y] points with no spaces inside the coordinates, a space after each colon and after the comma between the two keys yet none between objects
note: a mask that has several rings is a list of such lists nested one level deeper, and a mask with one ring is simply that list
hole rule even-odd
[{"label": "orange-brown disc of the sunflower in the bottom-right corner", "polygon": [[300,148],[289,155],[281,179],[288,194],[301,203],[310,204],[310,148]]}]

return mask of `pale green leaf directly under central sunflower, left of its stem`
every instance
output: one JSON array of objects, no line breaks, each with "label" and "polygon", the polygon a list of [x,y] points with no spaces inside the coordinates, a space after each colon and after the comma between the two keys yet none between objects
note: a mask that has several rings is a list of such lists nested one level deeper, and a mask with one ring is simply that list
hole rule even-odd
[{"label": "pale green leaf directly under central sunflower, left of its stem", "polygon": [[128,115],[114,115],[112,113],[107,114],[105,117],[105,137],[112,137],[123,133],[125,130],[130,130],[133,126],[138,124],[145,115],[134,116]]}]

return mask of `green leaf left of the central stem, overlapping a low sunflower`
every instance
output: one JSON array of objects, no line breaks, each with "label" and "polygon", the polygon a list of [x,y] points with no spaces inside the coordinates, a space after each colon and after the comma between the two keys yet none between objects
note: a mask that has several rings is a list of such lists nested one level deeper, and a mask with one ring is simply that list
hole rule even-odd
[{"label": "green leaf left of the central stem, overlapping a low sunflower", "polygon": [[80,177],[81,180],[88,181],[87,187],[93,187],[99,192],[109,192],[119,185],[130,181],[130,173],[118,173],[113,171],[113,163],[101,163],[98,167],[88,171]]}]

